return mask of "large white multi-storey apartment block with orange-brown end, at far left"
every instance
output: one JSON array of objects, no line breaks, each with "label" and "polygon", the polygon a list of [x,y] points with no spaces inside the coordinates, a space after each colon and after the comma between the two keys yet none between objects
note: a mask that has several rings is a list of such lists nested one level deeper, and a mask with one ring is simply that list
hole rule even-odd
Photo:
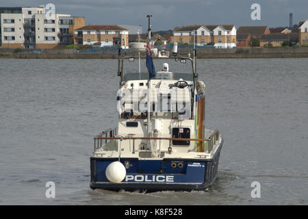
[{"label": "large white multi-storey apartment block with orange-brown end, at far left", "polygon": [[73,44],[75,28],[85,25],[84,17],[45,14],[44,6],[0,8],[1,47],[51,49]]}]

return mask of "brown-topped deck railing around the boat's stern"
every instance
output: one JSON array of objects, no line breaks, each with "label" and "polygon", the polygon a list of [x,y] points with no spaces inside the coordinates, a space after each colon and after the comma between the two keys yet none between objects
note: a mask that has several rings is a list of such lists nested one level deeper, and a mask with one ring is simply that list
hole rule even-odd
[{"label": "brown-topped deck railing around the boat's stern", "polygon": [[[133,137],[133,136],[117,136],[118,129],[107,129],[103,131],[98,136],[94,137],[94,151],[101,149],[102,146],[107,145],[108,143],[112,143],[112,140],[133,140],[133,153],[135,153],[135,140],[177,140],[177,141],[197,141],[197,142],[205,142],[205,147],[203,151],[208,151],[210,153],[213,150],[214,145],[219,139],[219,131],[215,130],[209,138],[154,138],[154,137]],[[115,143],[115,142],[114,142]],[[171,144],[170,144],[171,145]],[[115,145],[114,145],[115,146]]]}]

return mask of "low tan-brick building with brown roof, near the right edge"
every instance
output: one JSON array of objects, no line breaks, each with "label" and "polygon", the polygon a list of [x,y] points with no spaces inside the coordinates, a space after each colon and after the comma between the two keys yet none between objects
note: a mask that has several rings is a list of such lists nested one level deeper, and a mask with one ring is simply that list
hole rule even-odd
[{"label": "low tan-brick building with brown roof, near the right edge", "polygon": [[298,34],[264,34],[260,38],[260,47],[281,47],[283,43],[296,43],[298,42]]}]

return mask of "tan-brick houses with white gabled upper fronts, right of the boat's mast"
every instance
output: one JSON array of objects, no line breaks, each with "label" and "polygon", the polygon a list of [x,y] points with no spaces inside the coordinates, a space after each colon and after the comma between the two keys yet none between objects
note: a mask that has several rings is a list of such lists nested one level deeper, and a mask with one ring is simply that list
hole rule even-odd
[{"label": "tan-brick houses with white gabled upper fronts, right of the boat's mast", "polygon": [[233,48],[236,47],[236,29],[234,25],[178,27],[173,31],[172,40],[180,44],[212,44],[216,48]]}]

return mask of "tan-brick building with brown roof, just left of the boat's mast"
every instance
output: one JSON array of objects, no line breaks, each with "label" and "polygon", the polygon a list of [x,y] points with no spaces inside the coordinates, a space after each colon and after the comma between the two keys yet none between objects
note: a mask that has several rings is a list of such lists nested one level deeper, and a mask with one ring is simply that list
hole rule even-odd
[{"label": "tan-brick building with brown roof, just left of the boat's mast", "polygon": [[129,31],[118,25],[86,25],[75,29],[75,38],[78,44],[129,49]]}]

